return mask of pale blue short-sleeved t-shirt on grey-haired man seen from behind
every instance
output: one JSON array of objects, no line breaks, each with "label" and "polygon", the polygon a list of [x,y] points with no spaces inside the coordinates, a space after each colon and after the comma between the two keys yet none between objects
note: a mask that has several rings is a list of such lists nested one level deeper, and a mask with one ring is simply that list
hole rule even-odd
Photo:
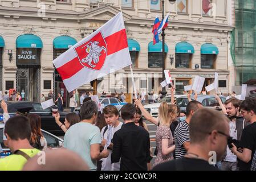
[{"label": "pale blue short-sleeved t-shirt on grey-haired man seen from behind", "polygon": [[91,123],[80,122],[72,125],[65,134],[63,146],[79,154],[90,170],[97,169],[96,160],[91,159],[92,144],[100,144],[100,129]]}]

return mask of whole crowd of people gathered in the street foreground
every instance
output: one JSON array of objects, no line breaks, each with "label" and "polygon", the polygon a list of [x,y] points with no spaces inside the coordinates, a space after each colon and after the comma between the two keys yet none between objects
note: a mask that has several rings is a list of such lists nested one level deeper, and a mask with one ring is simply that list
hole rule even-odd
[{"label": "whole crowd of people gathered in the street foreground", "polygon": [[[47,147],[38,115],[17,112],[10,118],[3,100],[5,145],[13,154],[0,159],[0,170],[256,170],[256,98],[241,102],[231,96],[222,103],[216,95],[216,109],[203,107],[190,94],[188,98],[186,110],[181,111],[172,87],[171,103],[162,102],[155,118],[141,97],[120,111],[108,105],[100,113],[96,102],[83,93],[79,114],[72,113],[77,106],[72,103],[64,123],[55,115],[56,125],[65,133],[58,150]],[[75,93],[70,99],[76,101]],[[157,126],[155,151],[143,117]],[[47,154],[44,167],[37,163],[40,151]],[[156,159],[151,166],[153,153]],[[55,159],[58,154],[70,162]]]}]

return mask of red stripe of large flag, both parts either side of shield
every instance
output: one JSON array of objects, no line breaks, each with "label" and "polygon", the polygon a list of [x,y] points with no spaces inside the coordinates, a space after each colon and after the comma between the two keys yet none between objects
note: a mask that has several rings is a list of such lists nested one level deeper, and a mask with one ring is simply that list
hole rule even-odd
[{"label": "red stripe of large flag, both parts either side of shield", "polygon": [[[121,49],[127,48],[127,37],[125,33],[125,29],[115,32],[115,34],[109,35],[105,38],[105,42],[107,43],[107,54],[112,55],[112,53],[121,51]],[[80,63],[78,57],[68,61],[68,63],[62,65],[57,68],[58,73],[62,77],[62,80],[72,77],[84,66]]]}]

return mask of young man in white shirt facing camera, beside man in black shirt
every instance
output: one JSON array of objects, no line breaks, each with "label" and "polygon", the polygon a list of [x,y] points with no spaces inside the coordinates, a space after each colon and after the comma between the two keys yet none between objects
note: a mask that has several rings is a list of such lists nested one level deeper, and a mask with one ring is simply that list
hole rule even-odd
[{"label": "young man in white shirt facing camera, beside man in black shirt", "polygon": [[111,164],[111,154],[113,149],[112,138],[114,133],[121,129],[123,123],[118,120],[119,114],[115,106],[108,105],[104,107],[103,114],[107,126],[103,127],[101,130],[101,147],[108,149],[109,155],[107,158],[101,159],[101,171],[119,171],[120,161],[118,163]]}]

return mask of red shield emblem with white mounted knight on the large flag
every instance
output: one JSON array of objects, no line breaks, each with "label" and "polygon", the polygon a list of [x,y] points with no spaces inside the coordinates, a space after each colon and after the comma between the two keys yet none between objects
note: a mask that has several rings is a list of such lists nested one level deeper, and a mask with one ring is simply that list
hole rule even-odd
[{"label": "red shield emblem with white mounted knight on the large flag", "polygon": [[105,62],[107,56],[107,43],[101,32],[96,34],[86,43],[75,47],[80,63],[87,68],[99,71]]}]

